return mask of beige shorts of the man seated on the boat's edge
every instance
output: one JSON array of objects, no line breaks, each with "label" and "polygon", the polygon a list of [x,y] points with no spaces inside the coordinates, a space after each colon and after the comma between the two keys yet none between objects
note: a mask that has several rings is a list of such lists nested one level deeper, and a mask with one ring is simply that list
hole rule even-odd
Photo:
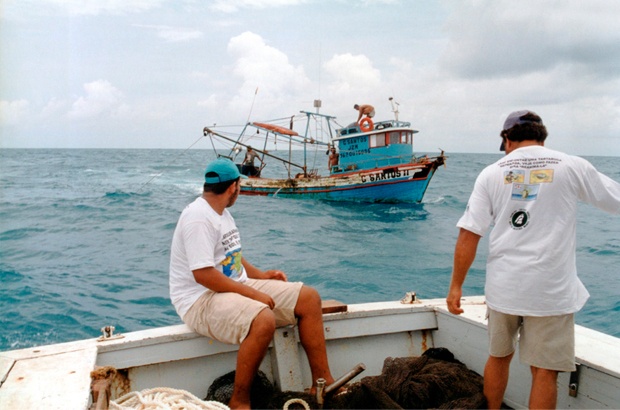
[{"label": "beige shorts of the man seated on the boat's edge", "polygon": [[[295,324],[295,305],[303,283],[248,279],[245,285],[268,294],[275,302],[276,326]],[[183,317],[196,333],[223,343],[241,344],[256,316],[269,307],[238,293],[206,291]]]}]

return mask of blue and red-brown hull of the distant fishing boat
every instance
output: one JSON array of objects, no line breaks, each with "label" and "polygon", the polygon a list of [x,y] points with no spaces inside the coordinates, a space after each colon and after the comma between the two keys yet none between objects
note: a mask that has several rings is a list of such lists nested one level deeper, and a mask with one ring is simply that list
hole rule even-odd
[{"label": "blue and red-brown hull of the distant fishing boat", "polygon": [[403,164],[322,178],[249,178],[242,195],[355,202],[419,203],[441,160]]}]

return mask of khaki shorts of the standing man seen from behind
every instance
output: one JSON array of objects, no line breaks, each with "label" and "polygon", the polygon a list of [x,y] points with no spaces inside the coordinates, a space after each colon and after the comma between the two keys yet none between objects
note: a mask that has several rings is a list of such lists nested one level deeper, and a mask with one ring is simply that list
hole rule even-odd
[{"label": "khaki shorts of the standing man seen from behind", "polygon": [[575,371],[575,315],[514,316],[488,309],[489,354],[505,357],[519,342],[519,360],[560,372]]}]

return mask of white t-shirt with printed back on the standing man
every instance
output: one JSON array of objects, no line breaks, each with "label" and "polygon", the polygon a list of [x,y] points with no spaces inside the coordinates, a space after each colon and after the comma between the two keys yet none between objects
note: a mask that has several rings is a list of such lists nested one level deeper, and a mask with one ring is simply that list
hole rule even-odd
[{"label": "white t-shirt with printed back on the standing man", "polygon": [[457,226],[489,237],[485,295],[519,316],[574,313],[590,296],[575,263],[578,201],[620,213],[620,184],[585,159],[519,148],[485,168]]}]

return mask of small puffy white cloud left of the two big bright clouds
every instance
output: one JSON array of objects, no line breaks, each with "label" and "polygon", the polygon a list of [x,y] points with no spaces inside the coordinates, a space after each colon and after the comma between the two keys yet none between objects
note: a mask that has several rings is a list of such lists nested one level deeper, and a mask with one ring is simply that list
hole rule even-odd
[{"label": "small puffy white cloud left of the two big bright clouds", "polygon": [[79,97],[67,114],[69,119],[98,117],[104,113],[112,116],[122,115],[128,107],[123,103],[123,93],[108,81],[97,80],[84,84],[86,96]]}]

